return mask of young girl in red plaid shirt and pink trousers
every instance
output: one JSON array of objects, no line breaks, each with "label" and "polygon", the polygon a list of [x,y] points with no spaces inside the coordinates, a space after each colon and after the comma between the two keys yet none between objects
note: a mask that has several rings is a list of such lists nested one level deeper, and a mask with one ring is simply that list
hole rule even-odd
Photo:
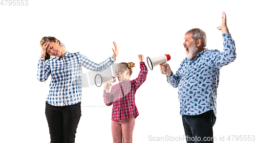
[{"label": "young girl in red plaid shirt and pink trousers", "polygon": [[111,129],[114,143],[122,142],[122,138],[124,143],[133,142],[135,118],[139,115],[135,105],[135,92],[146,80],[147,75],[147,67],[143,62],[144,56],[138,57],[140,73],[135,80],[129,80],[135,64],[133,62],[119,63],[115,70],[119,83],[114,85],[109,93],[106,91],[111,85],[104,85],[104,102],[107,106],[113,104]]}]

